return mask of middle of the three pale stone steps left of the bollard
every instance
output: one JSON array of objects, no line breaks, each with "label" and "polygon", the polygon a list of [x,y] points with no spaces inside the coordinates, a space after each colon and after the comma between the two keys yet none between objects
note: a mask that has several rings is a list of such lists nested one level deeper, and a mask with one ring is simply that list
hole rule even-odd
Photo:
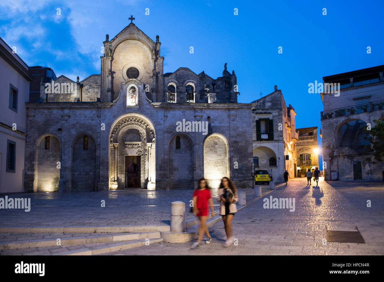
[{"label": "middle of the three pale stone steps left of the bollard", "polygon": [[[147,233],[121,233],[121,234],[106,234],[94,236],[78,236],[78,237],[64,237],[61,239],[61,246],[70,245],[83,245],[116,241],[130,241],[139,239],[152,239],[159,238],[160,232],[147,232]],[[23,249],[23,248],[38,248],[38,247],[51,247],[57,246],[57,238],[50,239],[35,239],[35,240],[20,240],[20,241],[5,241],[0,242],[0,250],[8,249]]]}]

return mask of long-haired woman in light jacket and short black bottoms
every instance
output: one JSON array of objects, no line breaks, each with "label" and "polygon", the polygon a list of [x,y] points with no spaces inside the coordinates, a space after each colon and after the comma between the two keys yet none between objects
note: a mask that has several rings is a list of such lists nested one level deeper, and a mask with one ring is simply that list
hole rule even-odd
[{"label": "long-haired woman in light jacket and short black bottoms", "polygon": [[234,242],[232,236],[232,219],[237,212],[236,202],[238,201],[237,188],[232,180],[228,177],[223,177],[219,186],[217,200],[220,202],[220,215],[223,218],[225,234],[227,240],[224,247],[229,247]]}]

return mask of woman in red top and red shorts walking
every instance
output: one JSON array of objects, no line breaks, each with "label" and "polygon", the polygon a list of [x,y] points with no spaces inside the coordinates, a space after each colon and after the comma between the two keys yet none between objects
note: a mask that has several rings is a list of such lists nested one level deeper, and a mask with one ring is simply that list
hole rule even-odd
[{"label": "woman in red top and red shorts walking", "polygon": [[207,225],[205,222],[208,217],[208,203],[211,206],[212,218],[215,216],[214,212],[214,203],[212,201],[210,188],[207,184],[205,178],[200,178],[198,188],[193,193],[193,211],[200,221],[199,236],[197,237],[197,242],[192,244],[192,248],[199,247],[200,242],[203,239],[204,233],[207,234],[206,244],[212,242],[212,237],[209,234]]}]

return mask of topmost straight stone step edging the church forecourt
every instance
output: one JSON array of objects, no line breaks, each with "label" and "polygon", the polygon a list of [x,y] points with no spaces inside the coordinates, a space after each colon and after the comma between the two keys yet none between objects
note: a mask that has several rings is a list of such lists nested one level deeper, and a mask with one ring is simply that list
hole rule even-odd
[{"label": "topmost straight stone step edging the church forecourt", "polygon": [[170,231],[169,225],[116,226],[3,226],[0,233],[121,233]]}]

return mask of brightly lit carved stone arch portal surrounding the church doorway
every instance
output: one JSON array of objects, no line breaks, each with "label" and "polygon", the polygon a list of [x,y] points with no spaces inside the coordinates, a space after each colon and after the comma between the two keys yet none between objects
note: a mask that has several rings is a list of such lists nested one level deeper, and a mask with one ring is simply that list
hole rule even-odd
[{"label": "brightly lit carved stone arch portal surrounding the church doorway", "polygon": [[[140,141],[126,141],[129,132],[138,132]],[[126,187],[126,157],[140,167],[140,187],[154,189],[156,183],[156,152],[154,125],[137,113],[121,115],[110,130],[109,189]]]}]

